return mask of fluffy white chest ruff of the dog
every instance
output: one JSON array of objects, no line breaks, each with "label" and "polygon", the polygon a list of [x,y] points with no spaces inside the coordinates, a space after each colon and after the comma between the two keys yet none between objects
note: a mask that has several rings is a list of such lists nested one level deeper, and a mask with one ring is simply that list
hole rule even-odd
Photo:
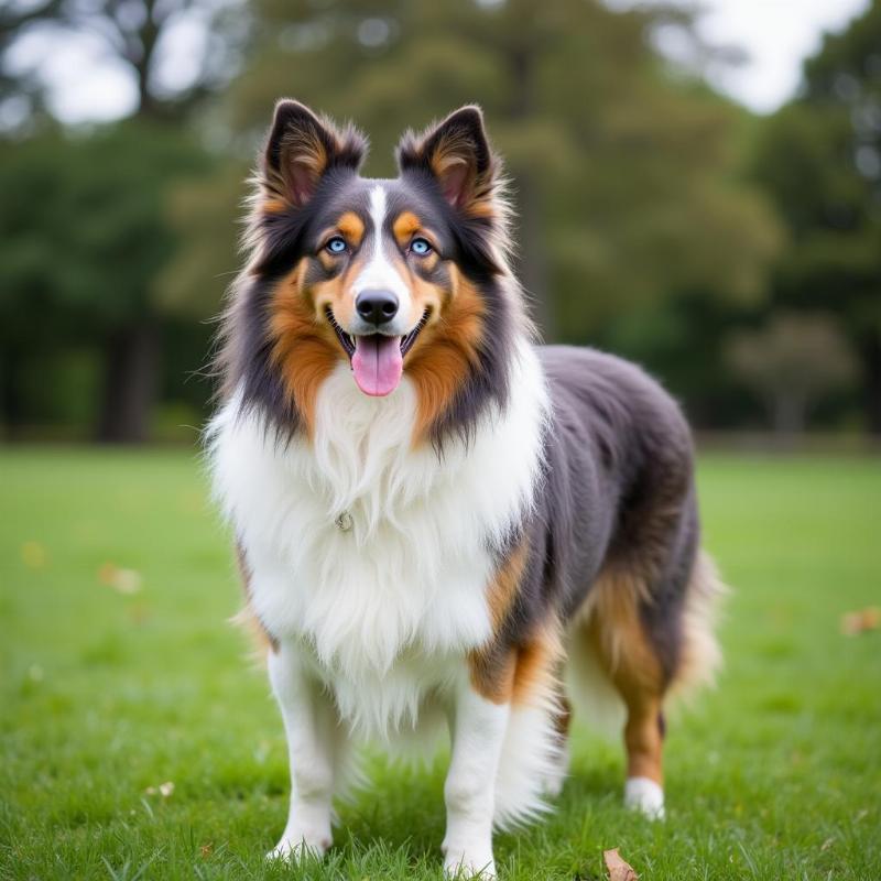
[{"label": "fluffy white chest ruff of the dog", "polygon": [[[275,443],[236,399],[211,423],[215,491],[247,555],[253,609],[302,646],[354,732],[414,730],[491,634],[488,545],[533,501],[547,412],[525,344],[511,391],[467,448],[450,440],[440,457],[412,446],[406,378],[369,398],[345,366],[319,391],[313,443]],[[350,531],[335,524],[344,511]]]}]

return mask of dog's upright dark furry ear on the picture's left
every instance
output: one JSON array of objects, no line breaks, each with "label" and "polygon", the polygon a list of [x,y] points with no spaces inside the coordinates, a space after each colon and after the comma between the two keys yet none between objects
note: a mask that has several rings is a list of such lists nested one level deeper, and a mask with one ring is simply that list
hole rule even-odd
[{"label": "dog's upright dark furry ear on the picture's left", "polygon": [[352,126],[338,129],[300,101],[275,105],[263,177],[270,210],[302,208],[325,174],[334,168],[357,171],[367,154],[367,139]]}]

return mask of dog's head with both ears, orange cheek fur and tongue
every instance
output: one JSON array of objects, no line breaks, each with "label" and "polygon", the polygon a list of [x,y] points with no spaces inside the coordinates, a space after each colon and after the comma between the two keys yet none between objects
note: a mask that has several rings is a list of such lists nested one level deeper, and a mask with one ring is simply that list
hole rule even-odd
[{"label": "dog's head with both ears, orange cheek fur and tongue", "polygon": [[367,395],[410,376],[425,429],[502,329],[498,162],[474,107],[405,134],[394,180],[361,177],[365,151],[355,130],[295,101],[276,107],[253,225],[269,360],[307,428],[341,361]]}]

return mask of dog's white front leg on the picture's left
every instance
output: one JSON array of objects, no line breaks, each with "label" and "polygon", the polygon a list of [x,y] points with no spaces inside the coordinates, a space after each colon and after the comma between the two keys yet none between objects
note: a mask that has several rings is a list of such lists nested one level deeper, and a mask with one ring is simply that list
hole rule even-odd
[{"label": "dog's white front leg on the picture's left", "polygon": [[291,762],[291,809],[270,858],[298,859],[330,847],[335,768],[341,733],[333,701],[303,670],[298,650],[281,643],[269,655],[269,678],[281,707]]}]

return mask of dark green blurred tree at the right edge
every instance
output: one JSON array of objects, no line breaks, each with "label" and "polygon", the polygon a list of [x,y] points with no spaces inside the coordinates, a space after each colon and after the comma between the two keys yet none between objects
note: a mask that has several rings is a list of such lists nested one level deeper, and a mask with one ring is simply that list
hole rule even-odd
[{"label": "dark green blurred tree at the right edge", "polygon": [[881,2],[805,63],[802,95],[771,118],[753,161],[791,244],[774,272],[784,308],[838,316],[881,433]]}]

